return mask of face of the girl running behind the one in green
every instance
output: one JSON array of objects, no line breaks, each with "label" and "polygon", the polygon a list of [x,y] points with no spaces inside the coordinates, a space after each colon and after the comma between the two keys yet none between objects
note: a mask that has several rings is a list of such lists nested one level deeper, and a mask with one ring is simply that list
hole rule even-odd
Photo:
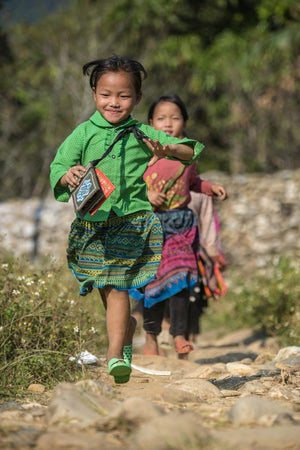
[{"label": "face of the girl running behind the one in green", "polygon": [[172,102],[160,102],[153,111],[149,121],[156,130],[162,130],[170,136],[183,138],[186,122],[183,120],[180,108]]}]

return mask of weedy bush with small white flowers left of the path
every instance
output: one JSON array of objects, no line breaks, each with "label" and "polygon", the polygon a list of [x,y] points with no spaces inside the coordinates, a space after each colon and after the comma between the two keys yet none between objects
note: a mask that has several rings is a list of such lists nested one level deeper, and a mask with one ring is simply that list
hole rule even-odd
[{"label": "weedy bush with small white flowers left of the path", "polygon": [[1,257],[2,388],[75,381],[83,372],[70,356],[87,349],[99,352],[106,344],[104,315],[97,314],[100,299],[94,305],[89,298],[79,298],[66,269],[49,261],[43,266],[46,269]]}]

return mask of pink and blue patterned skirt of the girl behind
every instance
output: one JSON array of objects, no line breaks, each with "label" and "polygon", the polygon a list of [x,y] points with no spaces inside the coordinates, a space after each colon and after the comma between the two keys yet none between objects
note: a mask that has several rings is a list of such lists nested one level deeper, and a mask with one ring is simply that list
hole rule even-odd
[{"label": "pink and blue patterned skirt of the girl behind", "polygon": [[162,259],[154,280],[144,292],[132,289],[129,294],[143,300],[146,308],[181,292],[198,292],[199,235],[197,219],[189,208],[157,213],[164,231]]}]

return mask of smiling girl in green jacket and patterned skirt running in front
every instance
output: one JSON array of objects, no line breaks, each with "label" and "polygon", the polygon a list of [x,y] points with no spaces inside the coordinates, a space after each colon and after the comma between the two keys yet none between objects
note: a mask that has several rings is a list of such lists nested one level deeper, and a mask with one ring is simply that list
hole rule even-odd
[{"label": "smiling girl in green jacket and patterned skirt running in front", "polygon": [[131,373],[135,330],[128,290],[154,278],[162,250],[161,225],[152,212],[143,174],[160,158],[190,164],[203,145],[167,136],[131,117],[146,77],[138,61],[112,56],[85,64],[83,73],[90,77],[96,112],[66,138],[51,164],[50,181],[58,201],[69,200],[70,187],[79,185],[85,166],[101,158],[117,133],[134,125],[147,135],[137,140],[127,134],[101,161],[99,169],[115,190],[95,214],[75,218],[67,249],[80,295],[99,289],[106,309],[108,371],[116,383],[125,383]]}]

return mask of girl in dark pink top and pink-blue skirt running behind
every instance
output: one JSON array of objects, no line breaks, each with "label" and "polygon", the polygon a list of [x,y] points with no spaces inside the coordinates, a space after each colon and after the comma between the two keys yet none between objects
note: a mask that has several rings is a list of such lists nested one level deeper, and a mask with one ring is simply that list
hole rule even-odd
[{"label": "girl in dark pink top and pink-blue skirt running behind", "polygon": [[[188,114],[177,95],[157,98],[150,106],[148,121],[156,130],[183,139]],[[190,191],[227,197],[223,186],[202,180],[197,175],[196,163],[184,166],[180,161],[160,159],[144,175],[148,197],[161,220],[164,244],[162,259],[156,277],[141,294],[131,290],[130,295],[143,301],[146,343],[144,353],[158,355],[157,336],[169,300],[170,334],[175,348],[184,358],[193,345],[187,340],[189,331],[189,299],[200,295],[199,235],[197,218],[188,208]]]}]

